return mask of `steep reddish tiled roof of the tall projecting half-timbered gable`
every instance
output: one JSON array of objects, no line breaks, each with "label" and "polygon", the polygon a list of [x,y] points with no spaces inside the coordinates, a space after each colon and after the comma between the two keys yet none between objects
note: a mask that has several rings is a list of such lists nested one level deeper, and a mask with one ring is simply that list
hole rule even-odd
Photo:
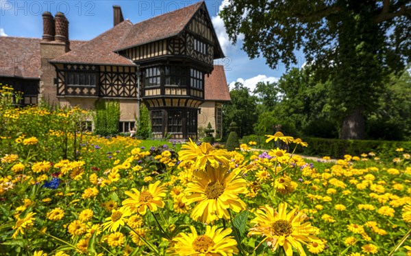
[{"label": "steep reddish tiled roof of the tall projecting half-timbered gable", "polygon": [[184,30],[203,1],[133,25],[116,51],[175,36]]}]

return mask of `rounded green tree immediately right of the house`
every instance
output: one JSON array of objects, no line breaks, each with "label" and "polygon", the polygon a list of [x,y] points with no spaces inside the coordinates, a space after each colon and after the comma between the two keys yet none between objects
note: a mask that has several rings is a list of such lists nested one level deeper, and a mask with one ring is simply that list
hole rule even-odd
[{"label": "rounded green tree immediately right of the house", "polygon": [[241,138],[253,133],[253,124],[258,119],[257,97],[250,90],[236,82],[234,89],[229,92],[231,101],[223,105],[223,127],[228,134],[229,124],[235,121],[238,126],[238,136]]}]

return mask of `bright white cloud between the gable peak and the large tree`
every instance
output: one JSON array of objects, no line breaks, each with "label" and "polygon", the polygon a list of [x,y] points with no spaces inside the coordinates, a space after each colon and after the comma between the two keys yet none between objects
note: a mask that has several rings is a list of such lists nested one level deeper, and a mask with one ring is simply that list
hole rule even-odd
[{"label": "bright white cloud between the gable peak and the large tree", "polygon": [[[223,8],[229,4],[231,4],[229,0],[223,0],[223,2],[221,2],[221,5],[219,6],[219,12],[221,12],[221,10],[223,10]],[[216,31],[217,38],[219,38],[223,52],[227,54],[228,51],[235,49],[236,47],[232,45],[232,41],[229,40],[228,34],[227,32],[225,32],[225,25],[223,19],[221,19],[221,16],[219,14],[217,14],[217,16],[212,16],[211,21],[212,25],[214,26],[214,30]],[[242,39],[244,39],[244,35],[238,35],[237,44],[240,43]]]}]

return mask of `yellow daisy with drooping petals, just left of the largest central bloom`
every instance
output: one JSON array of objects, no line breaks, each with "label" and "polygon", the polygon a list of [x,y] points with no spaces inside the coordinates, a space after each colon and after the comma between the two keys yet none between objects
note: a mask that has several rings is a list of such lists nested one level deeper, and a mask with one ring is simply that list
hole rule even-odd
[{"label": "yellow daisy with drooping petals, just left of the largest central bloom", "polygon": [[132,189],[132,191],[125,191],[125,194],[130,198],[123,200],[123,205],[130,207],[132,212],[138,211],[141,215],[145,215],[147,207],[150,211],[157,211],[158,207],[164,207],[164,201],[162,198],[166,196],[166,188],[159,186],[160,181],[156,181],[154,184],[150,184],[148,189],[142,187],[141,192],[137,189]]}]

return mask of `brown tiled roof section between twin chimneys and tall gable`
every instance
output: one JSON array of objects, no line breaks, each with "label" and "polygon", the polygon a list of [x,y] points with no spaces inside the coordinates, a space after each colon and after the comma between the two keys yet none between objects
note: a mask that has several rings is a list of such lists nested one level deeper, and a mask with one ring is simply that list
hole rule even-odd
[{"label": "brown tiled roof section between twin chimneys and tall gable", "polygon": [[125,20],[103,34],[92,38],[92,40],[84,43],[84,45],[78,49],[73,49],[62,56],[51,60],[51,62],[135,66],[132,60],[113,52],[114,49],[118,48],[119,42],[127,36],[132,27],[133,23],[129,20]]}]

